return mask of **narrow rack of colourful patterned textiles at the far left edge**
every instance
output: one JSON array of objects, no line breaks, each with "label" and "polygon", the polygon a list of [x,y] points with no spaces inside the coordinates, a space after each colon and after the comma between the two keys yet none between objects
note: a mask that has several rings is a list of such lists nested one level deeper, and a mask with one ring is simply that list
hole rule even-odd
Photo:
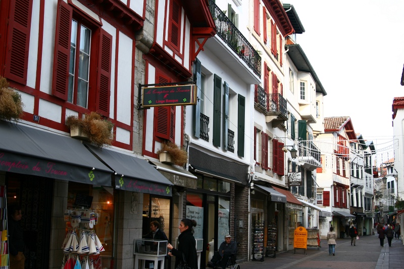
[{"label": "narrow rack of colourful patterned textiles at the far left edge", "polygon": [[0,186],[0,269],[8,269],[9,266],[9,243],[7,241],[7,195],[6,186]]}]

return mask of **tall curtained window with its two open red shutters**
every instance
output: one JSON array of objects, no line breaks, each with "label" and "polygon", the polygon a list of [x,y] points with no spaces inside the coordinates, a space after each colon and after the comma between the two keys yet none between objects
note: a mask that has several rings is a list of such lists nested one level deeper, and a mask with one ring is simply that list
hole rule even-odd
[{"label": "tall curtained window with its two open red shutters", "polygon": [[52,94],[108,117],[111,60],[112,36],[59,1]]}]

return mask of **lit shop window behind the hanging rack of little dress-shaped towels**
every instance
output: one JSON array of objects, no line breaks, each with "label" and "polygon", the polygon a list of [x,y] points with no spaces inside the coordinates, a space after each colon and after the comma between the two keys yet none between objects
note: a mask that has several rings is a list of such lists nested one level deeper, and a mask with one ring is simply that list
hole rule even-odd
[{"label": "lit shop window behind the hanging rack of little dress-shaped towels", "polygon": [[[83,200],[90,203],[90,207],[83,207]],[[69,182],[67,209],[76,208],[90,209],[98,214],[94,231],[105,249],[99,254],[100,263],[102,267],[109,267],[113,259],[114,188]],[[80,224],[80,228],[85,229],[82,225],[84,224]]]}]

